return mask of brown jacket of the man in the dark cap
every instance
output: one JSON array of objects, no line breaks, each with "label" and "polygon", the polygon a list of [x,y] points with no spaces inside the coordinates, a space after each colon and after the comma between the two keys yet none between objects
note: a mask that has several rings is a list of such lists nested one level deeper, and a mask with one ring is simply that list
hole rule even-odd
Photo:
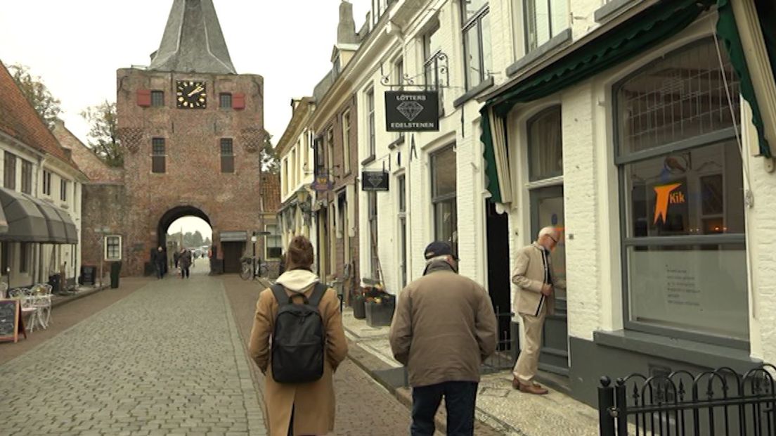
[{"label": "brown jacket of the man in the dark cap", "polygon": [[407,366],[411,386],[479,382],[497,337],[490,296],[444,261],[404,288],[390,326],[393,356]]}]

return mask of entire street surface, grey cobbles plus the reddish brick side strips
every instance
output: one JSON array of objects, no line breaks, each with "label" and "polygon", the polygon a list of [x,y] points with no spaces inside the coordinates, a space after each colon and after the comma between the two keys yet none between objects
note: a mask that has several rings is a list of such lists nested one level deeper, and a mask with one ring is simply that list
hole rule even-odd
[{"label": "entire street surface, grey cobbles plus the reddish brick side strips", "polygon": [[[48,338],[34,348],[0,344],[3,431],[266,434],[263,376],[245,355],[262,285],[194,269],[187,281],[127,279],[61,306],[49,330],[30,334],[30,344]],[[333,434],[408,433],[407,407],[349,359],[335,389]]]}]

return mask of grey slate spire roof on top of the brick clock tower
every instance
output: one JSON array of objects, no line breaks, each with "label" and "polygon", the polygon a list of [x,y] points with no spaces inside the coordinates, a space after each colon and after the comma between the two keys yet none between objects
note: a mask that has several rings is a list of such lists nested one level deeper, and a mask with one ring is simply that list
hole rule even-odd
[{"label": "grey slate spire roof on top of the brick clock tower", "polygon": [[149,70],[237,74],[213,0],[174,0]]}]

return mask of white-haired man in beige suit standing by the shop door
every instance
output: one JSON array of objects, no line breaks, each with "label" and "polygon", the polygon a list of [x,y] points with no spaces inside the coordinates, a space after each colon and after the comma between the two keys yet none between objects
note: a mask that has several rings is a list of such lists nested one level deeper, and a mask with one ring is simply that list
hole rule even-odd
[{"label": "white-haired man in beige suit standing by the shop door", "polygon": [[555,307],[555,288],[566,289],[566,282],[556,279],[550,253],[558,244],[560,234],[555,227],[539,230],[536,242],[518,251],[512,272],[512,282],[518,285],[514,299],[515,312],[520,315],[525,330],[520,357],[514,365],[512,387],[521,392],[545,394],[547,389],[534,382],[542,346],[542,327],[547,314]]}]

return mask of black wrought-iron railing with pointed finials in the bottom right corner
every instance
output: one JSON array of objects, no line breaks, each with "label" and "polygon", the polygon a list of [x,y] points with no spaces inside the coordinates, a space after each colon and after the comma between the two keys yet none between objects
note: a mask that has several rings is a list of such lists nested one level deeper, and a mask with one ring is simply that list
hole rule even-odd
[{"label": "black wrought-iron railing with pointed finials in the bottom right corner", "polygon": [[601,377],[601,436],[776,434],[776,367],[761,365],[740,375],[729,368],[646,377]]}]

